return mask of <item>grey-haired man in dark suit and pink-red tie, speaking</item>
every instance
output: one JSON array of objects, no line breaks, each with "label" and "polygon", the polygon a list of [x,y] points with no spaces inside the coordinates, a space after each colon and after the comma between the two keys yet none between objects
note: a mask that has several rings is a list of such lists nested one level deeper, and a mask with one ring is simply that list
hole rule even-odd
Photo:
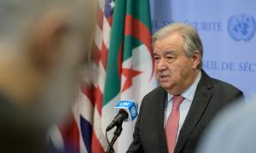
[{"label": "grey-haired man in dark suit and pink-red tie, speaking", "polygon": [[160,29],[153,48],[160,87],[143,98],[127,152],[195,152],[213,116],[243,94],[202,70],[203,47],[192,26],[174,23]]}]

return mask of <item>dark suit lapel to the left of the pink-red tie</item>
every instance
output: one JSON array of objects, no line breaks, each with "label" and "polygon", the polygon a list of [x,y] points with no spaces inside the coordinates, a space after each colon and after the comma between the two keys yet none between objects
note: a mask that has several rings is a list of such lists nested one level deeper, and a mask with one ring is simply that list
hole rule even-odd
[{"label": "dark suit lapel to the left of the pink-red tie", "polygon": [[[164,111],[165,111],[165,103],[166,103],[166,90],[164,88],[160,88],[157,96],[155,96],[154,101],[156,102],[156,116],[154,118],[157,127],[158,133],[158,143],[160,146],[160,150],[163,150],[163,153],[167,153],[166,147],[166,136],[165,136],[165,127],[164,127]],[[154,140],[155,141],[155,140]]]}]

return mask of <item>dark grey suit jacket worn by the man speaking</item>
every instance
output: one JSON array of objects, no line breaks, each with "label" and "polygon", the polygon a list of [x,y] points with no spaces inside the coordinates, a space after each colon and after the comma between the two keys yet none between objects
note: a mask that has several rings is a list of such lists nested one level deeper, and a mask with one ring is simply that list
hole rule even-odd
[{"label": "dark grey suit jacket worn by the man speaking", "polygon": [[[218,111],[236,99],[243,99],[241,90],[207,76],[205,71],[201,72],[201,80],[180,130],[175,153],[195,152],[201,134]],[[166,90],[161,87],[155,88],[143,98],[133,134],[134,139],[127,152],[168,152],[164,132],[165,100]]]}]

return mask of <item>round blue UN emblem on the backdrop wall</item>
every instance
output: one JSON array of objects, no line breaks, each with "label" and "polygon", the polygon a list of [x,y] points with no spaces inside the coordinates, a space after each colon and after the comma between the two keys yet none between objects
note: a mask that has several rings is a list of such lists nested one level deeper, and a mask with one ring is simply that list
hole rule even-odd
[{"label": "round blue UN emblem on the backdrop wall", "polygon": [[230,17],[228,31],[235,41],[250,41],[256,29],[252,15],[237,14]]}]

